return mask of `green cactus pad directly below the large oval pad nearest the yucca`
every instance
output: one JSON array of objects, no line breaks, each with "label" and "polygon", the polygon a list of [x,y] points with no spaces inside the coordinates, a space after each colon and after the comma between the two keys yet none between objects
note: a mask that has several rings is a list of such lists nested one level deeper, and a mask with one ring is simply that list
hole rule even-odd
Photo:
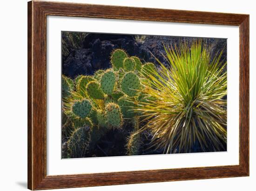
[{"label": "green cactus pad directly below the large oval pad nearest the yucca", "polygon": [[124,96],[118,99],[118,105],[120,106],[121,112],[125,119],[130,119],[135,116],[135,112],[133,110],[135,104],[132,102],[132,100],[129,100],[128,97]]}]

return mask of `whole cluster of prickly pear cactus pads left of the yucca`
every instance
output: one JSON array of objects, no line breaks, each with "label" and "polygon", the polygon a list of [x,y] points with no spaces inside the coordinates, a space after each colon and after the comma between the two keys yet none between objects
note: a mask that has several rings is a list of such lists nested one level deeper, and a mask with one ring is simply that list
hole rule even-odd
[{"label": "whole cluster of prickly pear cactus pads left of the yucca", "polygon": [[[67,141],[71,158],[84,156],[109,130],[123,129],[126,120],[134,125],[134,132],[128,136],[128,154],[139,152],[141,135],[135,134],[139,123],[133,108],[146,76],[143,72],[148,75],[152,66],[142,65],[138,57],[128,57],[121,49],[112,53],[110,62],[112,68],[98,70],[92,76],[80,75],[74,82],[62,77],[62,96],[69,100],[63,107],[65,120],[69,121],[65,123],[73,129]],[[82,152],[78,152],[79,148]]]}]

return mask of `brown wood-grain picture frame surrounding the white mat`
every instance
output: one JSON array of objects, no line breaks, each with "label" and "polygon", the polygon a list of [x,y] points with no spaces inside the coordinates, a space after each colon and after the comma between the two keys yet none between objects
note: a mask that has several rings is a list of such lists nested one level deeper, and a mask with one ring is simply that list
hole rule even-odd
[{"label": "brown wood-grain picture frame surrounding the white mat", "polygon": [[[78,175],[46,174],[47,15],[240,27],[239,165]],[[28,2],[28,188],[31,190],[249,176],[249,15],[60,2]]]}]

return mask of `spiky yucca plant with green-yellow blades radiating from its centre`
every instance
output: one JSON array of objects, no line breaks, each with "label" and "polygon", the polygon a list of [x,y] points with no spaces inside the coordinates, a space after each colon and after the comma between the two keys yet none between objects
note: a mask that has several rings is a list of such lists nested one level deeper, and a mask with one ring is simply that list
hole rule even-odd
[{"label": "spiky yucca plant with green-yellow blades radiating from its centre", "polygon": [[150,147],[164,153],[225,151],[227,73],[222,52],[211,60],[202,41],[180,44],[179,49],[165,46],[165,52],[169,65],[159,62],[158,70],[148,71],[142,80],[144,99],[135,110],[144,117],[144,126],[138,133],[150,130]]}]

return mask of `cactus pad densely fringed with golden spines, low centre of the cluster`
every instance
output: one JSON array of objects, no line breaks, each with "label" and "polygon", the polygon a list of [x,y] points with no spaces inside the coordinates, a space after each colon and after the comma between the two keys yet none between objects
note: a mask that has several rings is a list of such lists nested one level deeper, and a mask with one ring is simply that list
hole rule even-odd
[{"label": "cactus pad densely fringed with golden spines, low centre of the cluster", "polygon": [[115,103],[108,103],[108,105],[106,105],[105,110],[107,125],[111,128],[120,129],[122,126],[123,119],[119,105]]}]

